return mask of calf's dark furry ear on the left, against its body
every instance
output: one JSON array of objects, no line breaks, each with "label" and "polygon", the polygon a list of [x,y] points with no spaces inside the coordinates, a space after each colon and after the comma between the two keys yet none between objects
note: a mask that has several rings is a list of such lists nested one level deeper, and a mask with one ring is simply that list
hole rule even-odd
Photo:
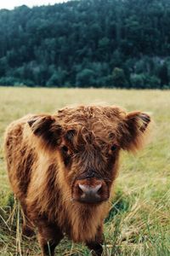
[{"label": "calf's dark furry ear on the left, against its body", "polygon": [[44,147],[54,148],[59,144],[62,127],[51,115],[37,115],[28,120],[33,134],[40,137]]}]

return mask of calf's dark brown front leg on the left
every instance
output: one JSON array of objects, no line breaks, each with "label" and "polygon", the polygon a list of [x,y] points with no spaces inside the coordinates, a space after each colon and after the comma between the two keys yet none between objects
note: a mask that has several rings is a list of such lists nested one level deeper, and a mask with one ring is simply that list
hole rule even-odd
[{"label": "calf's dark brown front leg on the left", "polygon": [[62,238],[63,234],[56,224],[48,222],[38,224],[38,241],[43,256],[54,256],[54,249]]}]

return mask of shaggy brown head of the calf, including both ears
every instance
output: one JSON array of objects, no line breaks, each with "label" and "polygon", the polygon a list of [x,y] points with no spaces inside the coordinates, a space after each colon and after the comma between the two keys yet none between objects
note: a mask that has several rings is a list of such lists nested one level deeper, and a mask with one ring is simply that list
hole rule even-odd
[{"label": "shaggy brown head of the calf, including both ears", "polygon": [[150,117],[117,107],[65,108],[29,125],[53,152],[73,201],[99,204],[110,197],[120,149],[142,146]]}]

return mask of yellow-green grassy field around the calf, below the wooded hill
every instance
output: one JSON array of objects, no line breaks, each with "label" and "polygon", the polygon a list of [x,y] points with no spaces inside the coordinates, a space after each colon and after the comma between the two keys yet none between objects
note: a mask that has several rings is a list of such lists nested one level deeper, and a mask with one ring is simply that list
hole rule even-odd
[{"label": "yellow-green grassy field around the calf, below the wooded hill", "polygon": [[[65,105],[102,103],[143,110],[155,120],[151,143],[122,153],[111,212],[105,220],[104,255],[170,255],[170,91],[67,90],[0,87],[0,255],[38,255],[35,238],[20,235],[20,207],[11,195],[3,160],[3,132],[26,113],[54,113]],[[56,255],[89,255],[63,240]]]}]

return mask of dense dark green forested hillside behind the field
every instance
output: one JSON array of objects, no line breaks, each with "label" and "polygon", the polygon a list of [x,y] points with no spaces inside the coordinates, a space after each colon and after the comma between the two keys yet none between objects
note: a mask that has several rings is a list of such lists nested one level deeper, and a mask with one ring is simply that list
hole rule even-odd
[{"label": "dense dark green forested hillside behind the field", "polygon": [[170,1],[0,10],[0,84],[170,88]]}]

